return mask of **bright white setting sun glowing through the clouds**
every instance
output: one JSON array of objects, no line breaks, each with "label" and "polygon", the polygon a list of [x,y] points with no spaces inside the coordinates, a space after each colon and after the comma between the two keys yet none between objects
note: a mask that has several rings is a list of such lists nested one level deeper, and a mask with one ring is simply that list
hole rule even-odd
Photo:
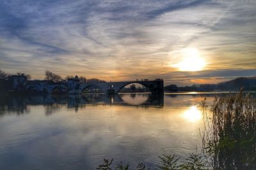
[{"label": "bright white setting sun glowing through the clouds", "polygon": [[205,60],[196,48],[182,50],[182,59],[175,64],[179,71],[201,71],[205,68]]}]

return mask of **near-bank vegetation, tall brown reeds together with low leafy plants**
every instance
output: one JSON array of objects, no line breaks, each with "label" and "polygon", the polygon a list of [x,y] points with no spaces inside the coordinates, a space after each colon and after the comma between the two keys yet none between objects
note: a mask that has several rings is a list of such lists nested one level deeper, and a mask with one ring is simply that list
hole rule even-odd
[{"label": "near-bank vegetation, tall brown reeds together with low leafy plants", "polygon": [[[256,169],[256,99],[244,94],[215,96],[212,104],[202,101],[204,129],[202,152],[189,153],[185,161],[177,155],[161,155],[154,169]],[[97,169],[129,170],[129,164],[104,159]],[[140,163],[135,170],[151,169]]]}]

